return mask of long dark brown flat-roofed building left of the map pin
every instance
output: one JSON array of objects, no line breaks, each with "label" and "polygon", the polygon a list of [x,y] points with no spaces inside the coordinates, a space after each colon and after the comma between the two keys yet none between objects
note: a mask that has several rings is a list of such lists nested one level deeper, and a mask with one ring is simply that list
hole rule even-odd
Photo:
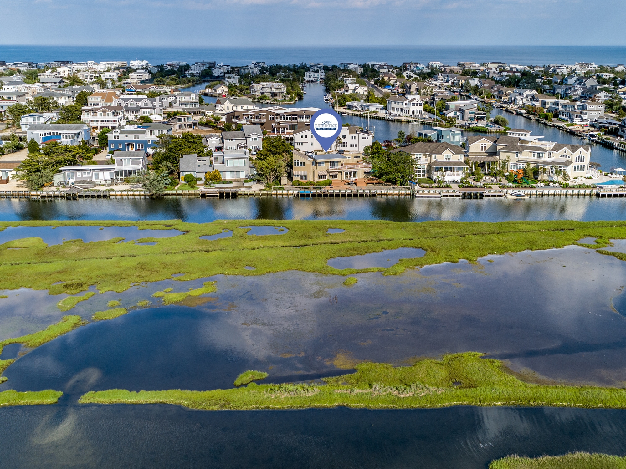
[{"label": "long dark brown flat-roofed building left of the map pin", "polygon": [[264,131],[274,134],[291,135],[295,131],[309,128],[310,119],[319,108],[269,108],[237,110],[226,114],[226,122],[259,124]]}]

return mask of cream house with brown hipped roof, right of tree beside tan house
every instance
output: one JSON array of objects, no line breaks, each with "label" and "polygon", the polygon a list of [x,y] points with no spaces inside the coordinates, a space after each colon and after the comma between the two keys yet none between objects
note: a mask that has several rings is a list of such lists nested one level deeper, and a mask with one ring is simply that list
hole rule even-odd
[{"label": "cream house with brown hipped roof, right of tree beside tan house", "polygon": [[448,142],[418,142],[391,150],[391,153],[398,151],[413,156],[417,178],[433,180],[439,178],[446,182],[458,182],[468,169],[468,165],[463,161],[464,149]]}]

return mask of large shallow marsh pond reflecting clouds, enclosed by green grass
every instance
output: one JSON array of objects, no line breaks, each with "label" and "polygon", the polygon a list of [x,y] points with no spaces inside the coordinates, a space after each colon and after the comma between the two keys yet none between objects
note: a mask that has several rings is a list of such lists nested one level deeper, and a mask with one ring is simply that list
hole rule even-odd
[{"label": "large shallow marsh pond reflecting clouds, enclosed by green grass", "polygon": [[[216,276],[208,279],[217,280],[215,298],[200,297],[194,308],[138,310],[79,328],[29,352],[5,375],[17,388],[56,389],[95,367],[106,388],[202,389],[227,385],[251,367],[271,366],[277,380],[360,360],[402,363],[476,350],[552,380],[626,381],[626,318],[613,309],[622,308],[626,263],[613,256],[568,246],[356,276],[350,287],[342,276],[294,271]],[[116,296],[126,306],[157,289],[206,280],[107,292],[76,308],[101,310]],[[90,301],[99,303],[83,306]]]}]

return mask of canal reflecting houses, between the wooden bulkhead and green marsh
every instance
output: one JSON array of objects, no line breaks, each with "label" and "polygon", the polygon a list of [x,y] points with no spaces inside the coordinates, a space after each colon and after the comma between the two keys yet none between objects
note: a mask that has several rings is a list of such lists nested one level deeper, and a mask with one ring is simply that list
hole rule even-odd
[{"label": "canal reflecting houses, between the wooden bulkhead and green marsh", "polygon": [[81,199],[54,202],[0,199],[0,219],[6,221],[182,219],[194,223],[218,219],[623,220],[626,219],[626,198],[551,196],[519,201],[500,198],[463,200],[409,197],[354,199],[181,197],[138,200]]}]

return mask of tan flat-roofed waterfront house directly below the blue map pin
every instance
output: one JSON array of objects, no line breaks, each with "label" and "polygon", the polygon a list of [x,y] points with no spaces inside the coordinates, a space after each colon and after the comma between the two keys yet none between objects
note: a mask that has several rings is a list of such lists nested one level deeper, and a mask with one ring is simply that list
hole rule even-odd
[{"label": "tan flat-roofed waterfront house directly below the blue map pin", "polygon": [[369,176],[372,165],[362,161],[362,154],[306,154],[294,149],[294,181],[356,181]]}]

